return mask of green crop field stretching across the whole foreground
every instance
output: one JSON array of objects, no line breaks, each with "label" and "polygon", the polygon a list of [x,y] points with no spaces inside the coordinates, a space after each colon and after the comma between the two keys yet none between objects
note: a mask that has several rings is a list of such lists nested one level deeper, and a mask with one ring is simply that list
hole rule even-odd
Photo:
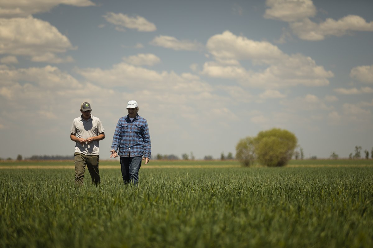
[{"label": "green crop field stretching across the whole foreground", "polygon": [[0,247],[373,247],[372,161],[310,161],[0,162]]}]

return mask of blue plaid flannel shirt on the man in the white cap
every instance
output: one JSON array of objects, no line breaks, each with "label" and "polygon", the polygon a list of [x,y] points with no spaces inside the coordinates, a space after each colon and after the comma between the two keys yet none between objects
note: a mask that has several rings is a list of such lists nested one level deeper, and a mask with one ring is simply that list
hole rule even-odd
[{"label": "blue plaid flannel shirt on the man in the white cap", "polygon": [[150,158],[151,144],[148,122],[139,115],[132,122],[128,115],[120,118],[113,135],[112,149],[117,151],[120,157],[144,155],[145,158]]}]

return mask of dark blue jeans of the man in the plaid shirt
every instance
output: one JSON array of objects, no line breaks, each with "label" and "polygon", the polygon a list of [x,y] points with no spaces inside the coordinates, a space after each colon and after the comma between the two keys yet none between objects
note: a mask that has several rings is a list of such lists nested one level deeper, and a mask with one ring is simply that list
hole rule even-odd
[{"label": "dark blue jeans of the man in the plaid shirt", "polygon": [[132,182],[134,185],[139,180],[139,170],[141,167],[140,157],[120,157],[120,170],[122,171],[123,182],[128,184]]}]

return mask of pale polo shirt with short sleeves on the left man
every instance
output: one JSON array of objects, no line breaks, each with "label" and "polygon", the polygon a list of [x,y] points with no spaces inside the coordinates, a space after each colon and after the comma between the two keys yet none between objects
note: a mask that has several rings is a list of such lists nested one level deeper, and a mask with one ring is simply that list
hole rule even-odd
[{"label": "pale polo shirt with short sleeves on the left man", "polygon": [[[91,115],[91,118],[84,120],[82,116],[75,118],[72,122],[70,133],[75,134],[77,138],[88,139],[103,133],[105,131],[100,119]],[[88,144],[81,145],[79,142],[75,144],[75,152],[85,155],[98,155],[98,141],[92,141]]]}]

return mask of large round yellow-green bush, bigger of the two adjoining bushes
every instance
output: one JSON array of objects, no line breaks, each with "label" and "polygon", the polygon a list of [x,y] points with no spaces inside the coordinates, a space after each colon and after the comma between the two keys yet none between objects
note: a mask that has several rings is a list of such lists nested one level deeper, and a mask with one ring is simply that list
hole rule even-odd
[{"label": "large round yellow-green bush, bigger of the two adjoining bushes", "polygon": [[255,154],[261,164],[284,166],[291,159],[298,139],[285,129],[273,128],[259,132],[254,139]]}]

